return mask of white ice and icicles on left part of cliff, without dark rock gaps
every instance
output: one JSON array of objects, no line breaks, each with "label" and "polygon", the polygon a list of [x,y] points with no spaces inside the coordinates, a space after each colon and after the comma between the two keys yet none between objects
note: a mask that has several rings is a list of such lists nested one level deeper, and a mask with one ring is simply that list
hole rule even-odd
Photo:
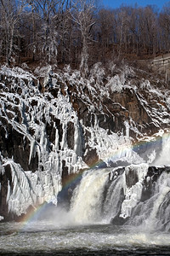
[{"label": "white ice and icicles on left part of cliff, without dark rock gaps", "polygon": [[[35,77],[31,73],[25,73],[21,68],[11,70],[3,67],[1,73],[7,76],[8,83],[11,83],[12,76],[12,89],[14,90],[3,91],[2,115],[13,129],[22,135],[23,141],[27,139],[30,143],[28,166],[32,159],[36,156],[38,158],[36,172],[31,172],[31,170],[25,172],[20,164],[15,163],[13,159],[3,158],[1,174],[4,174],[5,166],[10,166],[12,176],[11,183],[8,180],[6,198],[8,212],[14,212],[20,216],[21,213],[26,213],[26,209],[31,205],[37,206],[44,201],[57,203],[56,195],[61,189],[63,160],[65,160],[65,166],[68,167],[68,173],[78,172],[79,169],[87,166],[82,161],[80,124],[77,113],[72,109],[68,98],[60,92],[56,98],[48,93],[40,94],[37,86],[32,86],[32,79]],[[15,80],[16,78],[17,80]],[[28,84],[25,83],[25,79],[28,79]],[[17,83],[20,83],[21,94],[17,94]],[[48,101],[48,97],[50,97],[50,101]],[[19,115],[19,113],[15,113],[14,108],[17,108],[20,113],[20,122],[15,121],[16,114]],[[29,111],[26,111],[26,108]],[[59,120],[61,124],[61,141],[59,141],[59,127],[54,120]],[[54,143],[50,142],[49,144],[47,125],[51,125],[52,122],[54,123]],[[73,149],[68,147],[66,140],[69,122],[75,127]],[[6,137],[8,137],[8,131]],[[52,150],[49,150],[49,147]]]}]

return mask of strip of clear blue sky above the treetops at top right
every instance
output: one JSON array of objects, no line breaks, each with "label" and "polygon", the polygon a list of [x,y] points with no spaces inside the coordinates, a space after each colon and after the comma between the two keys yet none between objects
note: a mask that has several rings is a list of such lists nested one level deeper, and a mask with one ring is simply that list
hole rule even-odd
[{"label": "strip of clear blue sky above the treetops at top right", "polygon": [[113,9],[116,9],[116,8],[119,8],[122,3],[124,5],[133,5],[135,3],[138,4],[138,6],[146,6],[146,5],[156,5],[159,9],[162,8],[162,6],[165,4],[165,3],[170,3],[170,1],[168,0],[138,0],[138,1],[135,1],[135,0],[103,0],[103,5],[105,7],[108,7],[108,8],[113,8]]}]

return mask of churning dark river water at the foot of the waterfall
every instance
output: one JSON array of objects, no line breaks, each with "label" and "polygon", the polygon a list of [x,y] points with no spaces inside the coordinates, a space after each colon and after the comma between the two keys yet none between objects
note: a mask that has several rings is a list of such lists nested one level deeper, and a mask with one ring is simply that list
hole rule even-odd
[{"label": "churning dark river water at the foot of the waterfall", "polygon": [[1,255],[170,255],[170,234],[130,226],[0,224]]}]

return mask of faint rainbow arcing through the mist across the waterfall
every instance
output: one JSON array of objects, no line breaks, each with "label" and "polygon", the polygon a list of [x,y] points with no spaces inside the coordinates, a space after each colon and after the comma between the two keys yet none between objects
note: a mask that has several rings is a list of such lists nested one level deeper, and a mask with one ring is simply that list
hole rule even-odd
[{"label": "faint rainbow arcing through the mist across the waterfall", "polygon": [[[159,144],[161,143],[161,141],[163,139],[167,140],[167,138],[170,137],[170,133],[169,132],[160,132],[157,133],[155,137],[145,137],[143,138],[143,140],[139,141],[138,143],[132,143],[132,149],[134,151],[138,151],[139,148],[144,149],[146,147],[147,143],[155,143]],[[153,145],[151,145],[153,147]],[[124,146],[124,151],[127,148],[125,148]],[[118,157],[118,155],[120,154],[120,151],[122,151],[121,149],[118,149],[116,154],[114,155],[108,155],[108,160],[111,158],[116,159],[116,157]],[[95,168],[99,168],[103,165],[104,161],[103,160],[99,160],[98,162],[94,162],[91,166],[89,166],[89,169],[95,169]],[[87,169],[86,169],[87,170]],[[82,170],[82,172],[84,172],[85,170]],[[62,186],[62,193],[63,195],[65,195],[65,193],[68,193],[68,189],[72,186],[73,183],[77,183],[78,180],[80,180],[80,178],[82,177],[82,172],[78,172],[78,173],[74,173],[71,174],[70,176],[67,176],[64,178],[63,180],[63,186]],[[46,211],[48,208],[48,203],[44,202],[42,205],[37,206],[37,207],[31,207],[31,209],[26,213],[26,215],[20,219],[20,223],[21,223],[21,227],[20,230],[26,230],[26,226],[28,224],[30,224],[31,222],[36,221],[39,217],[41,217],[42,212]]]}]

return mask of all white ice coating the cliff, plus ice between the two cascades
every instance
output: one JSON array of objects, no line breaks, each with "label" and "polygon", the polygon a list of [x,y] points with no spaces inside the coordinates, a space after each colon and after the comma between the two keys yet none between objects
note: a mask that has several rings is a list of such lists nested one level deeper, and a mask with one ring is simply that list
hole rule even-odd
[{"label": "all white ice coating the cliff, plus ice between the two cascades", "polygon": [[[111,67],[112,73],[114,68],[115,66]],[[134,82],[130,83],[128,76],[133,78],[134,72],[126,65],[120,74],[108,76],[106,82],[104,82],[105,69],[101,67],[101,63],[94,65],[89,79],[82,79],[81,73],[72,72],[70,67],[65,67],[62,73],[53,73],[52,69],[50,66],[37,67],[34,73],[31,73],[20,67],[3,66],[0,71],[3,77],[0,83],[3,88],[0,115],[4,121],[1,121],[0,125],[3,127],[6,139],[10,137],[6,124],[15,131],[15,134],[20,134],[20,145],[23,147],[20,150],[29,151],[27,166],[30,168],[25,170],[14,160],[14,155],[8,158],[0,153],[1,177],[5,175],[7,166],[10,167],[12,177],[12,181],[8,179],[7,184],[8,211],[20,215],[26,212],[30,205],[37,206],[44,201],[53,201],[56,204],[56,195],[62,189],[63,169],[66,168],[68,174],[87,169],[90,166],[83,161],[83,156],[94,149],[105,166],[110,167],[113,163],[116,165],[120,162],[122,165],[125,163],[139,165],[139,182],[131,188],[124,187],[125,201],[122,204],[121,214],[124,217],[129,216],[133,207],[139,202],[141,183],[146,170],[143,156],[139,155],[137,150],[133,150],[130,131],[135,134],[137,142],[140,140],[150,142],[156,140],[156,137],[161,137],[163,148],[160,158],[156,160],[156,148],[152,148],[149,153],[146,152],[148,164],[152,164],[154,160],[158,165],[167,164],[168,160],[163,159],[168,159],[169,138],[163,138],[163,134],[154,136],[152,134],[152,137],[143,134],[142,130],[148,124],[135,123],[133,110],[129,107],[127,111],[126,106],[116,102],[114,97],[120,92],[123,95],[123,91],[132,94],[136,104],[142,106],[147,119],[159,130],[160,124],[169,124],[168,91],[162,92],[156,89],[147,79],[143,79],[138,84],[139,87]],[[151,99],[156,99],[156,108],[150,107],[144,97],[144,90],[148,90]],[[166,102],[163,100],[165,96]],[[86,108],[82,110],[77,101],[80,106],[82,104]],[[111,102],[113,112],[107,106],[108,101]],[[117,109],[120,109],[123,116],[121,119],[123,129],[113,132],[113,127],[111,129],[106,127],[106,119],[109,116],[111,125],[115,125],[114,111]],[[102,116],[102,121],[99,115]],[[102,127],[102,122],[105,123],[106,128]],[[168,132],[167,130],[167,134]],[[36,170],[32,172],[31,166],[36,161],[37,166],[34,166]],[[100,167],[98,163],[96,166]],[[129,168],[134,167],[127,166],[125,172],[128,172]],[[123,179],[120,179],[123,183]],[[0,183],[0,191],[1,189],[2,183]],[[121,193],[118,188],[117,191]],[[127,204],[131,205],[130,209],[127,208]],[[106,208],[105,211],[107,212]]]}]

